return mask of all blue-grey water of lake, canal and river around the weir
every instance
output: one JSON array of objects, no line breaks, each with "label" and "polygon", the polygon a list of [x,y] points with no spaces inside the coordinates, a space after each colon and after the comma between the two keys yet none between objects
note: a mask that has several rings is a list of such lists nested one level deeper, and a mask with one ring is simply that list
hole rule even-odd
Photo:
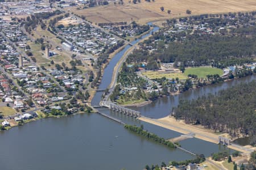
[{"label": "all blue-grey water of lake, canal and river around the weir", "polygon": [[[153,31],[157,31],[155,27]],[[152,31],[151,31],[152,32]],[[148,33],[143,37],[151,34]],[[142,37],[142,38],[143,38]],[[137,40],[138,41],[138,40]],[[137,43],[131,42],[131,44]],[[115,64],[129,49],[126,46],[117,53],[105,68],[99,88],[109,86]],[[167,116],[179,99],[195,99],[209,92],[248,82],[255,76],[207,86],[184,92],[177,96],[160,98],[141,108],[135,108],[148,117]],[[98,105],[102,92],[97,92],[92,105]],[[141,125],[144,129],[164,138],[178,137],[180,133],[141,122],[121,113],[99,108],[127,124]],[[75,114],[61,118],[45,118],[0,132],[0,165],[5,170],[32,169],[143,169],[146,164],[168,163],[170,160],[191,159],[192,156],[179,150],[168,149],[157,143],[131,133],[121,124],[97,113]],[[224,150],[224,146],[192,138],[180,142],[181,146],[196,154],[210,156]],[[230,150],[228,150],[230,151]]]}]

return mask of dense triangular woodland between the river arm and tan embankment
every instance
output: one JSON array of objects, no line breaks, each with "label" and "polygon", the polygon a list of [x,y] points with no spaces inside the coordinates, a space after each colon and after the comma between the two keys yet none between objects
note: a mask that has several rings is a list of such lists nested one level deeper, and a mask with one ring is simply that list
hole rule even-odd
[{"label": "dense triangular woodland between the river arm and tan embankment", "polygon": [[249,135],[256,142],[256,82],[242,83],[216,95],[197,100],[180,100],[176,119],[187,124],[201,124],[214,131],[227,131],[233,137]]}]

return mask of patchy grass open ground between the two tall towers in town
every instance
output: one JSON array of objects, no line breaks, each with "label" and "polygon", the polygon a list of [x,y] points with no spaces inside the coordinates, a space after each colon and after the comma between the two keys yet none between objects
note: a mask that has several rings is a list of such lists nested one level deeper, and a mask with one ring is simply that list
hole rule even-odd
[{"label": "patchy grass open ground between the two tall towers in town", "polygon": [[30,46],[37,63],[47,63],[51,61],[42,56],[43,51],[41,50],[41,45],[35,44],[35,42],[28,42],[27,44]]}]

